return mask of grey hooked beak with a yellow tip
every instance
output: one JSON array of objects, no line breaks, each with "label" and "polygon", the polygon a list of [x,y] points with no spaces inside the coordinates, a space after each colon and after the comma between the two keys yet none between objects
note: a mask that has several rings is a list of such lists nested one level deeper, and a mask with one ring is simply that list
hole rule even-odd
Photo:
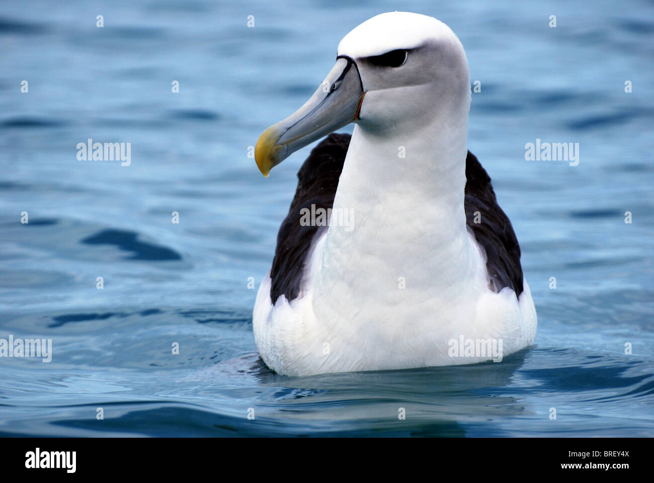
[{"label": "grey hooked beak with a yellow tip", "polygon": [[296,113],[273,124],[254,149],[256,166],[265,177],[293,152],[356,120],[366,93],[356,63],[337,58],[318,90]]}]

